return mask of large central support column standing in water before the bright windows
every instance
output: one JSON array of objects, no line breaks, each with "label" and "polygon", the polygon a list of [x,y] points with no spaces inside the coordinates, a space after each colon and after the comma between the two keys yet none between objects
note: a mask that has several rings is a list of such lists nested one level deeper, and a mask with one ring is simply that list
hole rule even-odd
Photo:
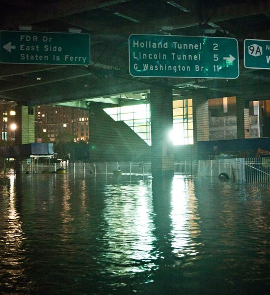
[{"label": "large central support column standing in water before the bright windows", "polygon": [[150,91],[152,176],[172,177],[174,174],[173,143],[169,137],[173,128],[172,89],[153,87]]}]

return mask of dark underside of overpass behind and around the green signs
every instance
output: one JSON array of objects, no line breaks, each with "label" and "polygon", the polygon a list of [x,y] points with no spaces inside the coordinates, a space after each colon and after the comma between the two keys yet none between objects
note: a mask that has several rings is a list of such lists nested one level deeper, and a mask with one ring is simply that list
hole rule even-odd
[{"label": "dark underside of overpass behind and around the green signs", "polygon": [[[243,66],[243,40],[270,39],[270,0],[2,0],[0,30],[68,32],[91,36],[89,66],[0,63],[0,99],[29,106],[71,101],[137,100],[162,78],[129,74],[128,37],[140,34],[234,37],[237,79],[165,79],[175,94],[244,95],[268,99],[270,71]],[[142,98],[143,99],[143,98]]]}]

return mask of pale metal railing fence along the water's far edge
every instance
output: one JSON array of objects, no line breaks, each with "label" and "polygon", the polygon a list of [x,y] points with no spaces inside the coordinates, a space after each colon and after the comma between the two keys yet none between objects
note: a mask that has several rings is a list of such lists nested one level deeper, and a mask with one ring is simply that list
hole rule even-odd
[{"label": "pale metal railing fence along the water's far edge", "polygon": [[[33,164],[31,173],[56,172],[64,168],[74,175],[109,175],[120,170],[123,174],[151,175],[151,162],[96,162],[96,163],[53,163]],[[22,168],[22,171],[27,171]],[[229,179],[246,182],[270,182],[270,158],[218,159],[177,161],[174,173],[185,176],[219,177],[221,173]]]}]

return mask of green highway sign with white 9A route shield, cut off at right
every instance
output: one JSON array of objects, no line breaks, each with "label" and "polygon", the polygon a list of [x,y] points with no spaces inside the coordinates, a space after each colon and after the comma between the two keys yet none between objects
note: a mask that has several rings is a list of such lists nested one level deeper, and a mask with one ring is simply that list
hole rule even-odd
[{"label": "green highway sign with white 9A route shield, cut off at right", "polygon": [[270,40],[244,40],[244,67],[270,69]]}]

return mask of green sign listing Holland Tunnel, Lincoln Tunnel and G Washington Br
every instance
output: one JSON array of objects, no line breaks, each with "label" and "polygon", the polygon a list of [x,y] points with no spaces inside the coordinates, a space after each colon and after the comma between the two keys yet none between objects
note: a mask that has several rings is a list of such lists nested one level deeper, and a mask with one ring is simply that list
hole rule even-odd
[{"label": "green sign listing Holland Tunnel, Lincoln Tunnel and G Washington Br", "polygon": [[135,77],[236,79],[238,42],[234,38],[133,34],[129,67]]}]

